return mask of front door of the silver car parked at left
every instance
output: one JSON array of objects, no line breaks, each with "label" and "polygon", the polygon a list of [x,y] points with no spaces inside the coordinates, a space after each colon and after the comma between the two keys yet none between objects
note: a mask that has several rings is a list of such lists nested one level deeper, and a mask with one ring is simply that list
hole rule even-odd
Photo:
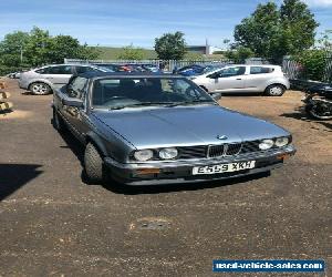
[{"label": "front door of the silver car parked at left", "polygon": [[73,74],[71,65],[55,65],[48,68],[44,78],[48,79],[55,89],[66,84]]}]

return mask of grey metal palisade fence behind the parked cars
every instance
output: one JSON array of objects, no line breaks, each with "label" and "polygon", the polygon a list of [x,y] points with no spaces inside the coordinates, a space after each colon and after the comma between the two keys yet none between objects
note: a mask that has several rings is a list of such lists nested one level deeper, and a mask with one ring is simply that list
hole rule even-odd
[{"label": "grey metal palisade fence behind the parked cars", "polygon": [[[135,64],[154,64],[158,68],[160,65],[165,65],[166,71],[173,71],[174,69],[179,69],[186,65],[190,64],[200,64],[200,65],[207,65],[207,64],[215,64],[215,65],[224,65],[224,64],[230,64],[236,63],[232,60],[229,59],[219,59],[219,60],[79,60],[79,59],[64,59],[64,63],[71,63],[71,64],[89,64],[89,63],[116,63],[116,64],[128,64],[128,63],[135,63]],[[245,60],[242,63],[250,63],[250,64],[266,64],[269,63],[267,60],[261,58],[250,58]]]}]

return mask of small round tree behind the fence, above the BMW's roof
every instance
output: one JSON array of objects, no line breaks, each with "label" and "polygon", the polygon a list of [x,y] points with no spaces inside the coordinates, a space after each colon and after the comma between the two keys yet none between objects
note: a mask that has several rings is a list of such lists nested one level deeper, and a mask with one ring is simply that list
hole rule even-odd
[{"label": "small round tree behind the fence, above the BMW's roof", "polygon": [[155,51],[160,60],[181,60],[186,54],[184,33],[165,33],[155,39]]}]

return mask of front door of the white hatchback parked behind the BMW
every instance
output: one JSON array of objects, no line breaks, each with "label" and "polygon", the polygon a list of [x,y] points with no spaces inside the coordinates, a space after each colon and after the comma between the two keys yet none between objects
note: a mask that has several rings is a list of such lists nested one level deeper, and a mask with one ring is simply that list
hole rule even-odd
[{"label": "front door of the white hatchback parked behind the BMW", "polygon": [[219,70],[214,79],[215,91],[219,92],[236,92],[245,88],[246,66],[228,66]]}]

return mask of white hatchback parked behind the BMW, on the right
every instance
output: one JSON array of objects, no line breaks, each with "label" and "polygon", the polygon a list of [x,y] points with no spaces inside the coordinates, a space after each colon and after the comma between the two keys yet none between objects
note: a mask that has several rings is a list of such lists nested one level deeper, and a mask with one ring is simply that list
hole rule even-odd
[{"label": "white hatchback parked behind the BMW, on the right", "polygon": [[290,88],[289,80],[279,65],[225,65],[193,76],[191,80],[207,92],[261,92],[281,96]]}]

